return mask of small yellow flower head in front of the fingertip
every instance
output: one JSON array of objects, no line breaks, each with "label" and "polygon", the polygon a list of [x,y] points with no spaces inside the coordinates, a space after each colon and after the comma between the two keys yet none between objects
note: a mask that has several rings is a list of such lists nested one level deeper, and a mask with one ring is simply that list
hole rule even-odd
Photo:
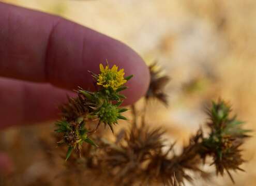
[{"label": "small yellow flower head in front of the fingertip", "polygon": [[101,73],[98,75],[97,85],[101,85],[104,88],[111,87],[113,90],[116,90],[127,82],[127,80],[124,79],[124,69],[118,71],[116,65],[111,69],[109,68],[109,65],[104,68],[103,65],[100,64],[99,67]]}]

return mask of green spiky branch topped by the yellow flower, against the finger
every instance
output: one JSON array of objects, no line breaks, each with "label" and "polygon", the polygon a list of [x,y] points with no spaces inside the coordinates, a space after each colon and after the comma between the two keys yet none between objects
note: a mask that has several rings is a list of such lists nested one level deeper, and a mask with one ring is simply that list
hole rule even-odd
[{"label": "green spiky branch topped by the yellow flower, against the finger", "polygon": [[[125,99],[120,92],[128,88],[124,84],[132,75],[124,77],[124,74],[124,69],[118,71],[116,65],[110,68],[107,63],[104,68],[100,64],[100,74],[92,73],[98,90],[90,92],[79,87],[76,90],[78,96],[69,98],[69,102],[60,107],[62,120],[56,122],[55,132],[62,134],[58,144],[68,146],[66,160],[73,150],[81,152],[84,142],[97,146],[90,136],[96,132],[100,123],[108,125],[113,132],[113,125],[117,124],[119,119],[127,120],[122,115],[127,108],[119,107]],[[93,121],[97,121],[97,126],[89,131],[86,123]]]}]

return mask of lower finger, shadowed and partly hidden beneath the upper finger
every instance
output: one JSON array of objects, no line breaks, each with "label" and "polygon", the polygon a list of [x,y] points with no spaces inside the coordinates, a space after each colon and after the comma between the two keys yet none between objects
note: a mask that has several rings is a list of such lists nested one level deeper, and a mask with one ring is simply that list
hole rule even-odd
[{"label": "lower finger, shadowed and partly hidden beneath the upper finger", "polygon": [[58,106],[73,92],[51,84],[0,78],[0,129],[59,118]]}]

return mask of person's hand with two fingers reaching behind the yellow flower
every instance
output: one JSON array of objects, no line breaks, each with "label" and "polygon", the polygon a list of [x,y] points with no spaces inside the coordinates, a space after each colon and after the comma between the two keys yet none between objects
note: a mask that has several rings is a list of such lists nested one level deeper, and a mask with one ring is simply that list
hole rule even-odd
[{"label": "person's hand with two fingers reaching behind the yellow flower", "polygon": [[[143,96],[149,72],[125,44],[63,18],[0,3],[0,128],[55,119],[70,90],[93,90],[91,74],[108,59],[134,74],[125,104]],[[0,154],[0,166],[7,166]]]}]

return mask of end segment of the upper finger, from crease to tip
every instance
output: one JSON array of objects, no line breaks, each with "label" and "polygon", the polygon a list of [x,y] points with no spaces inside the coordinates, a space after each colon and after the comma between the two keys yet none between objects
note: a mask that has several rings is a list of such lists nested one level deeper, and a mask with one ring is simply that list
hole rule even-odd
[{"label": "end segment of the upper finger, from crease to tip", "polygon": [[[65,30],[65,31],[64,31]],[[99,73],[99,64],[124,68],[134,77],[124,91],[126,104],[143,96],[149,85],[149,72],[143,59],[126,44],[81,25],[61,21],[55,27],[49,44],[48,77],[52,84],[67,89],[77,86],[94,90],[91,74]]]}]

